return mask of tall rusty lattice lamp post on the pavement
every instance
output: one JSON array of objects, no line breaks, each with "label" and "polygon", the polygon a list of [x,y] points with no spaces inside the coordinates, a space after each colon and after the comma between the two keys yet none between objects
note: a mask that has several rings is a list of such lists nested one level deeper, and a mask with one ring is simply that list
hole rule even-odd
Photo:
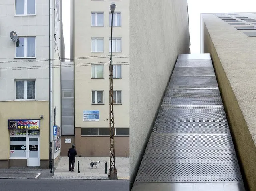
[{"label": "tall rusty lattice lamp post on the pavement", "polygon": [[113,105],[113,65],[112,65],[112,34],[113,34],[113,13],[116,5],[111,3],[111,48],[109,62],[109,178],[117,179],[117,169],[115,168],[115,128],[114,128],[114,105]]}]

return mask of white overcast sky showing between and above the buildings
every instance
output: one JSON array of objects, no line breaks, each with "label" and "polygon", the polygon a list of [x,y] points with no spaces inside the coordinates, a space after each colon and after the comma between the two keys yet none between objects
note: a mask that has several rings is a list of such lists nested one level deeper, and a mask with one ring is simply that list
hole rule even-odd
[{"label": "white overcast sky showing between and above the buildings", "polygon": [[[256,0],[187,0],[190,51],[200,53],[200,13],[256,12]],[[70,0],[62,0],[65,58],[70,58]]]}]

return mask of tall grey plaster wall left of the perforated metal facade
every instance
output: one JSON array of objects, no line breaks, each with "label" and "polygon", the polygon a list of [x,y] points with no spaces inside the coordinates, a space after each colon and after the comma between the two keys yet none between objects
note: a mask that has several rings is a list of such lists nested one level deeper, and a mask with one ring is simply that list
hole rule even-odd
[{"label": "tall grey plaster wall left of the perforated metal facade", "polygon": [[130,0],[130,185],[181,53],[189,53],[187,1]]}]

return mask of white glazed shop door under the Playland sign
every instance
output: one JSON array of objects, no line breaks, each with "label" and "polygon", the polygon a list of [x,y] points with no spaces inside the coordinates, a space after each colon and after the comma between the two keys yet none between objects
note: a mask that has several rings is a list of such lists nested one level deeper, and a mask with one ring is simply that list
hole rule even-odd
[{"label": "white glazed shop door under the Playland sign", "polygon": [[28,137],[28,166],[40,166],[39,137]]}]

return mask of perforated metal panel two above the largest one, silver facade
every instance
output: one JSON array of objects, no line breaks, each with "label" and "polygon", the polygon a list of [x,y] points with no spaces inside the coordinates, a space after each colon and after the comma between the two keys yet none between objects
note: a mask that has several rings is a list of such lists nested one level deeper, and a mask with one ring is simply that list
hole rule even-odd
[{"label": "perforated metal panel two above the largest one, silver facade", "polygon": [[218,89],[167,89],[162,105],[222,105],[222,99]]}]

